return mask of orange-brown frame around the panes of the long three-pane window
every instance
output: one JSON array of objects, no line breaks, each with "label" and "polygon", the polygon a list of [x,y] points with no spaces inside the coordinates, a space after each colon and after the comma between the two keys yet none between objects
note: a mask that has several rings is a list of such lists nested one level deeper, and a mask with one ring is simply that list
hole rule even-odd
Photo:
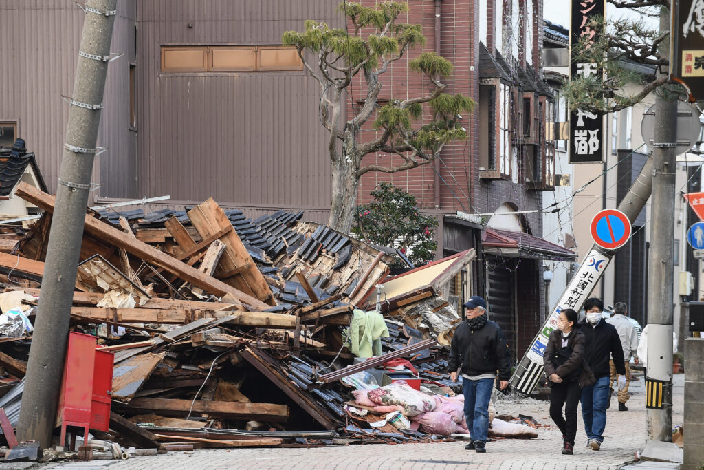
[{"label": "orange-brown frame around the panes of the long three-pane window", "polygon": [[[272,49],[296,49],[295,47],[282,45],[246,45],[246,46],[161,46],[161,73],[256,73],[256,72],[303,72],[303,61],[298,66],[262,66],[261,52]],[[213,52],[227,50],[249,50],[251,51],[252,62],[250,67],[215,67],[213,64]],[[167,51],[203,51],[202,68],[165,68],[165,53]]]}]

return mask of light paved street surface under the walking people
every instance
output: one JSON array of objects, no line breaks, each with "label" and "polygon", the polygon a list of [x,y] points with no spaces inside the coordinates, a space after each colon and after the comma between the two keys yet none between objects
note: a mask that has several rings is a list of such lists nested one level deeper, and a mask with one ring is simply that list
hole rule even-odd
[{"label": "light paved street surface under the walking people", "polygon": [[[548,416],[548,402],[526,400],[523,403],[497,403],[500,414],[528,414],[543,425],[539,437],[532,440],[505,439],[488,443],[486,454],[464,450],[465,442],[404,445],[348,445],[339,447],[197,450],[193,453],[169,452],[154,457],[134,457],[124,462],[97,461],[81,464],[54,464],[44,469],[584,469],[616,470],[634,462],[636,451],[646,441],[646,413],[643,375],[631,382],[628,412],[618,412],[616,398],[608,410],[602,450],[586,448],[586,435],[579,414],[577,445],[573,456],[560,454],[560,431]],[[684,375],[674,378],[673,423],[683,421]],[[393,466],[393,467],[392,467]],[[0,465],[0,469],[4,466]]]}]

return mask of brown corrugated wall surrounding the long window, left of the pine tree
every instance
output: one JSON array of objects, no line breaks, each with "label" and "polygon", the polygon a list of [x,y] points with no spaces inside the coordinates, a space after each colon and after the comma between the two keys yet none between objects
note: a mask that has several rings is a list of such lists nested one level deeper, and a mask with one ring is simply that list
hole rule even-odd
[{"label": "brown corrugated wall surrounding the long window, left of the pine tree", "polygon": [[[306,73],[161,73],[167,44],[280,44],[337,2],[144,0],[137,5],[139,194],[325,209],[320,85]],[[188,27],[192,22],[193,27]]]}]

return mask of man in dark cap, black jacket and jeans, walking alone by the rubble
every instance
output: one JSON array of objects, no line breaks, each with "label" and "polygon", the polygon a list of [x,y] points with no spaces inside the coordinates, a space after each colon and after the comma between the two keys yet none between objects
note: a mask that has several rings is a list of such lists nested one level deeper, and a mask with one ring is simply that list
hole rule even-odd
[{"label": "man in dark cap, black jacket and jeans, walking alone by the rubble", "polygon": [[496,372],[501,390],[508,387],[511,375],[508,345],[501,328],[487,318],[486,302],[482,297],[470,297],[463,307],[467,320],[458,325],[452,338],[450,376],[456,382],[461,366],[465,419],[472,435],[472,442],[465,449],[486,452],[489,401]]}]

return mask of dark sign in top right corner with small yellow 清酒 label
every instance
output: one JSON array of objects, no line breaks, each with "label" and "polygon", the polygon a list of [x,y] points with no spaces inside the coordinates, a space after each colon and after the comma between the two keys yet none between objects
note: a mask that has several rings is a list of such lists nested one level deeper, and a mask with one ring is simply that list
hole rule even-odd
[{"label": "dark sign in top right corner with small yellow \u6e05\u9152 label", "polygon": [[704,99],[704,0],[679,0],[673,18],[670,73]]}]

